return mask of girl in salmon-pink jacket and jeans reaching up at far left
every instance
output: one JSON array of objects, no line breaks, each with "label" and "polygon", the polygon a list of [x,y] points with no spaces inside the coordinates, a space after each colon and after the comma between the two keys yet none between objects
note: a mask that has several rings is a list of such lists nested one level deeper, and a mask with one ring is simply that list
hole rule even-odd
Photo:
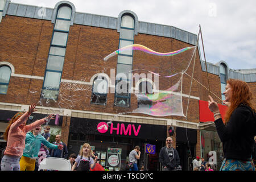
[{"label": "girl in salmon-pink jacket and jeans reaching up at far left", "polygon": [[36,111],[36,104],[28,107],[28,111],[18,112],[11,118],[6,128],[4,138],[7,141],[6,150],[1,160],[2,171],[19,171],[19,160],[25,147],[25,139],[28,131],[48,122],[51,117],[43,118],[26,125],[28,117]]}]

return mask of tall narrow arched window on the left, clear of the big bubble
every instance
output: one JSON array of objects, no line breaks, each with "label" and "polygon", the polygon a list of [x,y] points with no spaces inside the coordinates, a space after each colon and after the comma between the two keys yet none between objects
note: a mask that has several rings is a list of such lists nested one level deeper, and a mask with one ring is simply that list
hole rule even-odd
[{"label": "tall narrow arched window on the left, clear of the big bubble", "polygon": [[63,71],[65,52],[71,23],[72,9],[69,6],[60,6],[52,33],[49,48],[46,73],[42,89],[42,98],[56,100],[59,95],[60,80]]}]

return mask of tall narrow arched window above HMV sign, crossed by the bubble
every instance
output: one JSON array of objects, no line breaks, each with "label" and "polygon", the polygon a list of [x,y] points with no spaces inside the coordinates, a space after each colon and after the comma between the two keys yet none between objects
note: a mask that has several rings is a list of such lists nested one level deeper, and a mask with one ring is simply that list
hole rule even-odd
[{"label": "tall narrow arched window above HMV sign, crossed by the bubble", "polygon": [[[121,18],[119,48],[134,44],[134,18],[125,14]],[[117,58],[117,76],[115,78],[114,105],[129,107],[131,94],[131,70],[133,68],[133,50],[123,51]]]}]

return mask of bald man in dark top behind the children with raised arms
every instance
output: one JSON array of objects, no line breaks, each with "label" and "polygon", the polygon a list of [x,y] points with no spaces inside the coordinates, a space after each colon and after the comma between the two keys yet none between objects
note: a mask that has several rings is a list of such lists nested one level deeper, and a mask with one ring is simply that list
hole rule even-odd
[{"label": "bald man in dark top behind the children with raised arms", "polygon": [[67,148],[67,145],[64,142],[61,141],[61,135],[56,135],[55,142],[53,142],[53,144],[56,144],[56,145],[62,144],[63,145],[63,150],[50,149],[49,153],[51,154],[51,156],[53,158],[67,159],[68,158],[68,148]]}]

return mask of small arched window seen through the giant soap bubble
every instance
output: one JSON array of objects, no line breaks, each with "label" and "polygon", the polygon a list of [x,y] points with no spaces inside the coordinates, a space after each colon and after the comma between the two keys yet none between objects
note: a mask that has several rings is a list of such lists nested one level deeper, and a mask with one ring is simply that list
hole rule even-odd
[{"label": "small arched window seen through the giant soap bubble", "polygon": [[[142,81],[139,83],[139,93],[141,94],[152,94],[153,87],[148,81]],[[152,101],[148,100],[147,97],[138,97],[138,107],[142,105],[152,106]]]}]

